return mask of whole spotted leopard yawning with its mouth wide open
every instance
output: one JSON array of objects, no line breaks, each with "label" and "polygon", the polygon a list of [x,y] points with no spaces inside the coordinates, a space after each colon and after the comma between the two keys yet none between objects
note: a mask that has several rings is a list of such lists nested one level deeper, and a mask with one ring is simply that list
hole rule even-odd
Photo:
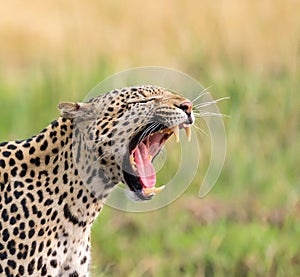
[{"label": "whole spotted leopard yawning with its mouth wide open", "polygon": [[37,135],[0,144],[0,276],[90,276],[91,226],[109,194],[122,183],[151,200],[162,190],[153,159],[195,120],[190,100],[155,85],[58,109]]}]

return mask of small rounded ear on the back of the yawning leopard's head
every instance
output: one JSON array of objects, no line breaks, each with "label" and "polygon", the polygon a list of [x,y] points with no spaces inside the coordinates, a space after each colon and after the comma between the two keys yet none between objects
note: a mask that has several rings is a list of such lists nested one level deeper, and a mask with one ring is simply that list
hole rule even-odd
[{"label": "small rounded ear on the back of the yawning leopard's head", "polygon": [[94,114],[92,103],[61,102],[58,109],[61,116],[67,119],[88,119]]}]

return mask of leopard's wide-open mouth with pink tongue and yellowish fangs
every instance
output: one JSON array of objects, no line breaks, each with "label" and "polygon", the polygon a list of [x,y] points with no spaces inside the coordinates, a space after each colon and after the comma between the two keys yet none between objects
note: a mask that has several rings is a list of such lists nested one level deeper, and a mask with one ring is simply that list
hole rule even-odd
[{"label": "leopard's wide-open mouth with pink tongue and yellowish fangs", "polygon": [[152,123],[131,140],[129,153],[123,162],[123,175],[129,189],[138,199],[150,200],[163,190],[164,186],[155,187],[156,172],[152,162],[172,134],[179,142],[179,129],[183,128],[190,139],[190,126],[190,124],[180,124],[167,128],[162,124]]}]

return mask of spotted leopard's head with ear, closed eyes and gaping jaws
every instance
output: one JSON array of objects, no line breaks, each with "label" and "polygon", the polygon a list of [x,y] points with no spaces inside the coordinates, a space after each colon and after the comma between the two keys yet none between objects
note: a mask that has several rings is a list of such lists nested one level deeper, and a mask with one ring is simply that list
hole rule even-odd
[{"label": "spotted leopard's head with ear, closed eyes and gaping jaws", "polygon": [[84,149],[94,155],[86,157],[107,181],[125,183],[141,200],[161,190],[153,159],[172,134],[179,139],[179,129],[190,137],[194,122],[191,101],[156,86],[116,89],[85,103],[60,103],[59,109],[78,126]]}]

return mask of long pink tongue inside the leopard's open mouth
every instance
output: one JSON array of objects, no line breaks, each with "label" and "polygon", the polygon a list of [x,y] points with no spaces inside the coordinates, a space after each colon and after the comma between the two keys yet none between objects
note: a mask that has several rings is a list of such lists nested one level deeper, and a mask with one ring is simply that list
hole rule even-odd
[{"label": "long pink tongue inside the leopard's open mouth", "polygon": [[134,151],[134,161],[144,187],[154,187],[156,183],[155,169],[149,159],[149,149],[143,142],[141,142]]}]

